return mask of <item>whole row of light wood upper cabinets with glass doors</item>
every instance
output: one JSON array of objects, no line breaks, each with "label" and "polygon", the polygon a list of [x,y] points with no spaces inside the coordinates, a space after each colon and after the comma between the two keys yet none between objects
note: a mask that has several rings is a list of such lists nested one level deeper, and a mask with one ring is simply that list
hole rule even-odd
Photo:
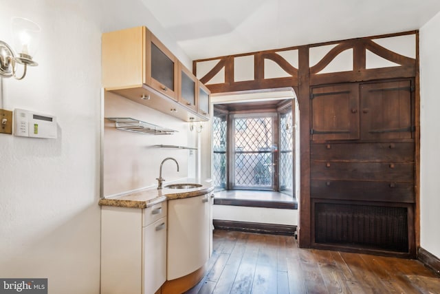
[{"label": "whole row of light wood upper cabinets with glass doors", "polygon": [[102,87],[186,121],[208,120],[199,81],[148,28],[102,34]]}]

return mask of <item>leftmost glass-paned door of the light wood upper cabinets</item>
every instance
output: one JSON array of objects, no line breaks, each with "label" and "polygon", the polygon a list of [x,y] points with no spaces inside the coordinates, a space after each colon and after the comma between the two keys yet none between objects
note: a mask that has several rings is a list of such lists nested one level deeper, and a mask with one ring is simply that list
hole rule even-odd
[{"label": "leftmost glass-paned door of the light wood upper cabinets", "polygon": [[177,101],[177,59],[153,34],[147,42],[146,68],[151,81],[147,77],[146,83]]}]

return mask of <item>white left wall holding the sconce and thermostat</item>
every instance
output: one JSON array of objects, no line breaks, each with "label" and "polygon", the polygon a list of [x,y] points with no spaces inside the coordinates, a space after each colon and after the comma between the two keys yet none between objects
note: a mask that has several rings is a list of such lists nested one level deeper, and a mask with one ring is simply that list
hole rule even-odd
[{"label": "white left wall holding the sconce and thermostat", "polygon": [[101,32],[147,25],[186,64],[188,57],[141,1],[0,0],[0,7],[2,41],[11,42],[9,16],[43,30],[39,66],[23,81],[3,79],[0,107],[58,118],[56,140],[0,134],[0,277],[47,277],[50,293],[99,293]]}]

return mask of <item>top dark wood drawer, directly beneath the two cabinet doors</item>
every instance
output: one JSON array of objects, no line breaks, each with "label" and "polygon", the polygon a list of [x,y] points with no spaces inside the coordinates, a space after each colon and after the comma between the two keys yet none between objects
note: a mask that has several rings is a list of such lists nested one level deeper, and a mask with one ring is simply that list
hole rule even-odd
[{"label": "top dark wood drawer, directly beneath the two cabinet doors", "polygon": [[414,162],[414,143],[312,144],[311,159]]}]

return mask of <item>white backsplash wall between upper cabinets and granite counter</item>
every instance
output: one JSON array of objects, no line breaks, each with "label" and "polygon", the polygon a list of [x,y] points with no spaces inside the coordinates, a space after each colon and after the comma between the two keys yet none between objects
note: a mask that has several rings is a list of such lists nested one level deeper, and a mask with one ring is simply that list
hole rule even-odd
[{"label": "white backsplash wall between upper cabinets and granite counter", "polygon": [[164,163],[162,177],[166,182],[187,178],[188,160],[194,165],[197,151],[159,148],[155,145],[195,147],[195,139],[188,134],[188,123],[112,93],[105,95],[104,117],[131,117],[177,131],[172,135],[161,136],[135,134],[115,129],[114,122],[105,120],[102,172],[104,197],[157,187],[159,167],[167,157],[173,157],[179,162],[179,172],[175,162]]}]

